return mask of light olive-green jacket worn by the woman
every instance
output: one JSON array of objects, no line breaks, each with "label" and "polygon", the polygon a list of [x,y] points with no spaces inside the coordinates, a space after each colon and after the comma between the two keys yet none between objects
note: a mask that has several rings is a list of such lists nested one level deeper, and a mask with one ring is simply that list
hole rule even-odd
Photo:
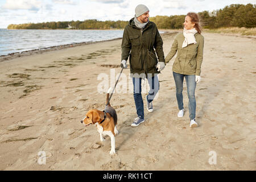
[{"label": "light olive-green jacket worn by the woman", "polygon": [[172,66],[173,72],[183,75],[200,76],[203,61],[204,36],[196,33],[195,38],[196,44],[189,44],[187,47],[182,48],[185,39],[184,35],[180,33],[176,36],[171,51],[166,56],[166,63],[169,63],[177,52],[177,57]]}]

